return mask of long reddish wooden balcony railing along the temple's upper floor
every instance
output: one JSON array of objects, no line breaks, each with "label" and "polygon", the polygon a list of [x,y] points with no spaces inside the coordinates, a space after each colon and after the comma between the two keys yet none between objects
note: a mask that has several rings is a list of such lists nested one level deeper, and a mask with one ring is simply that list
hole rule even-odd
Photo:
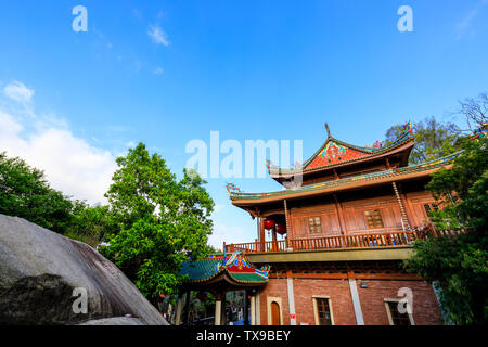
[{"label": "long reddish wooden balcony railing along the temple's upper floor", "polygon": [[441,235],[458,235],[464,229],[444,231],[394,231],[374,234],[337,235],[308,239],[292,239],[280,241],[258,241],[239,244],[224,244],[226,252],[241,250],[243,253],[293,252],[293,250],[334,250],[348,248],[378,248],[410,246],[416,240],[437,237]]}]

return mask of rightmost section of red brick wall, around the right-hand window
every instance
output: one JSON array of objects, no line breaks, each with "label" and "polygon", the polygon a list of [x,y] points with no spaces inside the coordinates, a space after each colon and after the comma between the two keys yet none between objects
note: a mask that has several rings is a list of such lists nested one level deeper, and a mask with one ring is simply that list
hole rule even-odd
[{"label": "rightmost section of red brick wall, around the right-hand window", "polygon": [[413,294],[412,314],[415,325],[442,324],[439,306],[434,288],[427,282],[420,281],[363,281],[367,288],[361,288],[357,280],[362,316],[367,325],[388,325],[384,298],[401,298],[398,290],[409,287]]}]

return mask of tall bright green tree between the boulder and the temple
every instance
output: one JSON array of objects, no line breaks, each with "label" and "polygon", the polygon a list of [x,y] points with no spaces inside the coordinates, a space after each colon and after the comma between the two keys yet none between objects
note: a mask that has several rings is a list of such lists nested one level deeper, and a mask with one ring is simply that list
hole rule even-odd
[{"label": "tall bright green tree between the boulder and the temple", "polygon": [[149,298],[175,293],[182,262],[208,254],[214,202],[203,187],[206,182],[187,170],[178,180],[143,143],[116,162],[105,196],[117,231],[101,252]]}]

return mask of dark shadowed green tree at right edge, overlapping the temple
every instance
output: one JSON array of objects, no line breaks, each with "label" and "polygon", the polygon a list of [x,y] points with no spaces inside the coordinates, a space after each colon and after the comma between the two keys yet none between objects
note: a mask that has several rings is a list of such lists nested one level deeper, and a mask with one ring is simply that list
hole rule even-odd
[{"label": "dark shadowed green tree at right edge, overlapping the temple", "polygon": [[463,141],[450,169],[432,175],[426,185],[442,206],[433,213],[438,228],[465,227],[458,236],[419,241],[406,261],[440,288],[441,304],[457,324],[488,323],[488,140]]}]

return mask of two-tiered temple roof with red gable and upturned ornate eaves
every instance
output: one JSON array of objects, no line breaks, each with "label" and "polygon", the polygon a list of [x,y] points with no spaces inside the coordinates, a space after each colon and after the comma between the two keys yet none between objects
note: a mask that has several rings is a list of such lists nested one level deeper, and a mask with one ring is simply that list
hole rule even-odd
[{"label": "two-tiered temple roof with red gable and upturned ornate eaves", "polygon": [[[303,198],[313,195],[357,190],[376,184],[427,177],[440,167],[449,166],[458,154],[408,166],[414,145],[412,126],[408,123],[398,138],[385,145],[357,146],[333,138],[328,127],[324,144],[301,166],[293,169],[268,165],[270,176],[286,190],[266,193],[244,193],[228,185],[232,204],[242,208]],[[300,184],[296,184],[299,178]],[[294,184],[295,183],[295,184]],[[251,211],[251,210],[249,210]]]}]

